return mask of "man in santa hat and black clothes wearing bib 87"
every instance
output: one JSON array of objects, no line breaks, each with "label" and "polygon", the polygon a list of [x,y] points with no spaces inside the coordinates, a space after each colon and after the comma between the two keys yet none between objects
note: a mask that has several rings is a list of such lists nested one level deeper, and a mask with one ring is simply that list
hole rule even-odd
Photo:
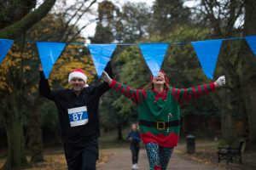
[{"label": "man in santa hat and black clothes wearing bib 87", "polygon": [[[55,102],[61,125],[61,139],[68,170],[95,170],[98,159],[99,101],[108,91],[107,82],[89,86],[83,70],[70,72],[68,82],[72,89],[52,91],[39,65],[39,94]],[[105,68],[113,77],[111,63]]]}]

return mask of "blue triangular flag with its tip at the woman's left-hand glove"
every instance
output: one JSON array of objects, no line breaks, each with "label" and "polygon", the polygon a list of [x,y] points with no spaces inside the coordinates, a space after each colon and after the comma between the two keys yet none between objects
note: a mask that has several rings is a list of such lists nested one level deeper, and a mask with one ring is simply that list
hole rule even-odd
[{"label": "blue triangular flag with its tip at the woman's left-hand glove", "polygon": [[89,44],[88,47],[96,68],[97,76],[100,78],[116,48],[116,44]]}]

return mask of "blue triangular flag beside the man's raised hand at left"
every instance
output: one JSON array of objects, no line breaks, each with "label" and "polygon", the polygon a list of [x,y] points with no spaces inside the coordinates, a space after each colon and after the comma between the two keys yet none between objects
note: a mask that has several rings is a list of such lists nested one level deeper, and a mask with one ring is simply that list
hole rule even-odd
[{"label": "blue triangular flag beside the man's raised hand at left", "polygon": [[64,42],[37,42],[38,53],[43,66],[44,76],[49,78],[49,72],[56,60],[61,55],[62,50],[65,48]]}]

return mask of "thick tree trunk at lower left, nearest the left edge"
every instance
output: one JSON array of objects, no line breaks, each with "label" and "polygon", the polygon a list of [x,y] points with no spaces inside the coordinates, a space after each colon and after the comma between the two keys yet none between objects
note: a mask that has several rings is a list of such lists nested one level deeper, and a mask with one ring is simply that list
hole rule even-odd
[{"label": "thick tree trunk at lower left, nearest the left edge", "polygon": [[6,116],[3,117],[4,126],[8,138],[8,157],[3,169],[21,169],[27,166],[25,153],[25,139],[23,123],[19,101],[15,100],[15,95],[10,94],[10,108]]}]

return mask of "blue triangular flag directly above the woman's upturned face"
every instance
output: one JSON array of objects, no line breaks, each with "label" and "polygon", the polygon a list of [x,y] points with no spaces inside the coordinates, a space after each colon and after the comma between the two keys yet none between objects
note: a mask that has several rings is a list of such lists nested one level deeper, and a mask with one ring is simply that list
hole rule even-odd
[{"label": "blue triangular flag directly above the woman's upturned face", "polygon": [[169,43],[139,43],[148,68],[154,75],[160,71]]}]

